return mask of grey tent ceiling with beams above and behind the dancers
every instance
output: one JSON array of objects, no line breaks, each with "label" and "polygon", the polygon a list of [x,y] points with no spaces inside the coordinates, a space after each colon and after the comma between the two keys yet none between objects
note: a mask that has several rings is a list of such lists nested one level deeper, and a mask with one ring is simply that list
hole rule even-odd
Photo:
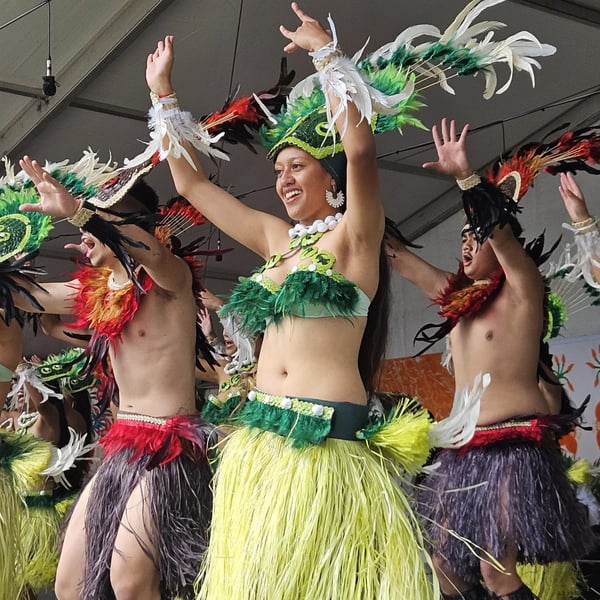
[{"label": "grey tent ceiling with beams above and behind the dancers", "polygon": [[[443,29],[464,4],[466,0],[305,0],[302,5],[322,21],[331,12],[342,47],[352,53],[368,36],[373,50],[409,25],[431,23]],[[175,88],[182,105],[199,116],[219,108],[237,85],[247,93],[273,84],[285,44],[278,26],[296,23],[287,0],[52,0],[51,54],[60,87],[55,96],[43,99],[48,6],[4,0],[0,26],[37,5],[42,6],[0,30],[0,155],[8,154],[13,161],[23,154],[76,160],[87,147],[103,159],[109,152],[118,161],[133,156],[141,150],[139,140],[147,139],[144,67],[158,39],[175,36]],[[482,98],[482,77],[455,80],[455,96],[427,90],[427,107],[420,113],[425,125],[444,115],[472,128],[495,123],[471,136],[473,162],[483,167],[502,151],[539,139],[562,123],[599,120],[597,0],[506,1],[482,18],[507,23],[499,32],[502,37],[531,31],[555,45],[557,54],[542,59],[535,89],[520,73],[505,94],[491,100]],[[297,80],[311,68],[301,53],[288,62]],[[573,97],[579,99],[560,103]],[[539,110],[554,103],[558,105]],[[426,131],[407,129],[403,135],[379,137],[386,213],[400,221],[407,235],[427,231],[456,212],[459,198],[451,182],[420,169],[432,157]],[[165,199],[173,195],[166,166],[155,170],[149,181]],[[234,149],[231,163],[219,172],[221,185],[231,186],[245,202],[283,216],[270,189],[272,181],[272,169],[260,152],[254,156],[244,149]],[[63,243],[51,243],[41,260],[52,275],[69,268]],[[223,245],[228,244],[224,238]],[[236,248],[222,262],[209,262],[207,285],[224,291],[229,283],[219,281],[235,280],[256,262]]]}]

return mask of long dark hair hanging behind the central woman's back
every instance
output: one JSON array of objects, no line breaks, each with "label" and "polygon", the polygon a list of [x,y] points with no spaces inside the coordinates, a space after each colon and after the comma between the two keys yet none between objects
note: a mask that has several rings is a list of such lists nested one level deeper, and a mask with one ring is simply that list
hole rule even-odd
[{"label": "long dark hair hanging behind the central woman's back", "polygon": [[379,251],[379,285],[369,307],[367,326],[358,353],[358,369],[367,390],[375,391],[375,375],[385,354],[390,316],[390,267],[383,241]]}]

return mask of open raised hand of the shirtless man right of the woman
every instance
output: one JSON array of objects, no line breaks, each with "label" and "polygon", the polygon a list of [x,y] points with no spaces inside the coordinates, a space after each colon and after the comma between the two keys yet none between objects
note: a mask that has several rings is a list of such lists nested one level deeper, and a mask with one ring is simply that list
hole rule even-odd
[{"label": "open raised hand of the shirtless man right of the woman", "polygon": [[[469,125],[465,125],[456,139],[456,122],[450,121],[444,117],[438,131],[437,125],[431,129],[433,143],[437,151],[438,159],[436,162],[427,162],[423,164],[424,169],[433,169],[438,173],[450,175],[455,179],[465,179],[473,173],[473,168],[469,163],[467,156],[467,132]],[[440,135],[441,134],[441,135]]]}]

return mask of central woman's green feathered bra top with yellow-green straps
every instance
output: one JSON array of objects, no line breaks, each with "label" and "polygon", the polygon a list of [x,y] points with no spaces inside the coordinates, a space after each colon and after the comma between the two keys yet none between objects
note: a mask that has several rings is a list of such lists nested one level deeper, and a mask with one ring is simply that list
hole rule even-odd
[{"label": "central woman's green feathered bra top with yellow-green straps", "polygon": [[[290,240],[289,250],[275,254],[233,291],[220,315],[235,314],[247,335],[256,335],[285,317],[366,317],[371,301],[356,284],[334,270],[335,256],[314,246],[323,233]],[[281,285],[264,272],[300,251],[309,262],[294,265]]]}]

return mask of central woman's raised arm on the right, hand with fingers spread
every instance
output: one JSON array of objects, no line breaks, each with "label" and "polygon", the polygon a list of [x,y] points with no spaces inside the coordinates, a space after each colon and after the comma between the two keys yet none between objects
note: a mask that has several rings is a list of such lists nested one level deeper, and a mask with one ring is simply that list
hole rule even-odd
[{"label": "central woman's raised arm on the right, hand with fingers spread", "polygon": [[[345,58],[337,47],[337,40],[325,31],[316,19],[305,13],[296,2],[292,10],[301,24],[291,31],[281,26],[280,31],[290,40],[285,52],[298,48],[317,54],[313,60],[320,71],[321,85],[327,93],[331,113],[337,115],[336,127],[340,135],[346,158],[346,212],[344,222],[350,231],[350,239],[360,243],[379,244],[384,228],[383,205],[379,190],[375,136],[366,118],[362,118],[353,101],[354,91],[348,86],[344,106],[340,98],[332,92],[328,81],[348,81],[350,77],[360,77],[353,63]],[[338,83],[339,87],[340,83]],[[339,109],[342,110],[339,110]]]}]

